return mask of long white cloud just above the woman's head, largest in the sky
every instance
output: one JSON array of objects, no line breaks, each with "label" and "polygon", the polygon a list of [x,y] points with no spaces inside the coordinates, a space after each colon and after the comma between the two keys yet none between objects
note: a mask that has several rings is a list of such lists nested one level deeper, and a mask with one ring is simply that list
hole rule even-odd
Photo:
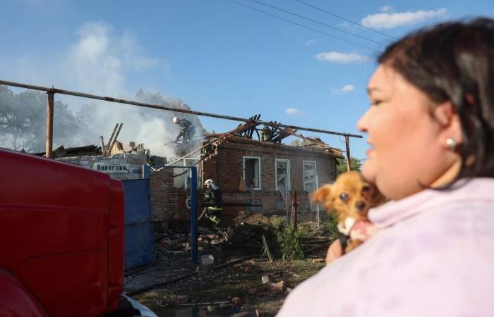
[{"label": "long white cloud just above the woman's head, largest in the sky", "polygon": [[400,12],[400,13],[376,13],[367,15],[361,20],[361,24],[375,29],[391,29],[402,25],[411,25],[432,18],[444,17],[447,14],[445,8],[431,11]]}]

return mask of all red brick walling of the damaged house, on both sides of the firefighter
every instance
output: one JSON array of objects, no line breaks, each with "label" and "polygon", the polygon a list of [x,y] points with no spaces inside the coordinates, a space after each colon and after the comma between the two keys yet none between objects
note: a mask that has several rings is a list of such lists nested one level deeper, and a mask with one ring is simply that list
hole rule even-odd
[{"label": "all red brick walling of the damaged house, on both sides of the firefighter", "polygon": [[[290,161],[291,190],[297,192],[300,213],[315,210],[315,205],[308,204],[308,193],[303,191],[303,161],[316,162],[319,185],[335,180],[334,154],[284,144],[232,138],[219,144],[217,155],[202,163],[202,179],[215,180],[222,190],[223,201],[226,203],[249,204],[251,201],[251,195],[243,182],[243,156],[260,157],[261,190],[255,191],[255,204],[262,206],[225,207],[224,216],[237,216],[243,212],[284,213],[286,211],[281,194],[275,190],[275,159]],[[173,186],[173,174],[172,168],[163,168],[151,174],[151,209],[155,221],[187,220],[189,217],[190,210],[186,209],[185,204],[188,192]],[[202,189],[200,189],[198,206],[201,205],[202,199]],[[201,211],[199,208],[198,213]]]}]

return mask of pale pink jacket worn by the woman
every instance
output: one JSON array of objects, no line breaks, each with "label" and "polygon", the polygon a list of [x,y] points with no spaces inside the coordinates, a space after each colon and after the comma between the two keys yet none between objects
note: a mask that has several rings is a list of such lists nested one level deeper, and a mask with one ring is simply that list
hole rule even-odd
[{"label": "pale pink jacket worn by the woman", "polygon": [[493,178],[426,189],[369,218],[377,235],[296,287],[278,317],[494,316]]}]

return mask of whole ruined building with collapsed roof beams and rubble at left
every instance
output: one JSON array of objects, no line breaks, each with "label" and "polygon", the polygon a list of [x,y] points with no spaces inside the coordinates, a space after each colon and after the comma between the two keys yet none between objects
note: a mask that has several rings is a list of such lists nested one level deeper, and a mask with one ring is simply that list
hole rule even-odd
[{"label": "whole ruined building with collapsed roof beams and rubble at left", "polygon": [[[203,142],[176,144],[181,157],[171,158],[170,162],[150,156],[144,144],[117,141],[121,128],[118,124],[107,145],[59,147],[54,156],[120,180],[150,178],[150,209],[157,228],[161,223],[188,220],[186,201],[190,197],[191,173],[186,167],[190,166],[198,168],[198,197],[202,197],[202,184],[208,178],[222,189],[224,216],[288,213],[294,191],[301,216],[311,215],[315,204],[311,204],[310,194],[319,185],[335,180],[342,151],[320,139],[298,135],[294,129],[279,128],[275,122],[259,128],[259,117],[253,116],[229,132],[205,135]],[[289,136],[302,141],[282,144],[282,139]],[[199,200],[198,207],[201,205]]]}]

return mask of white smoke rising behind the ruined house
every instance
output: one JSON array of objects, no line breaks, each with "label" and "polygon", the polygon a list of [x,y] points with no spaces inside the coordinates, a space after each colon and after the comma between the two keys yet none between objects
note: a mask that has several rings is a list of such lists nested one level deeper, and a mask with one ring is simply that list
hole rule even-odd
[{"label": "white smoke rising behind the ruined house", "polygon": [[[71,73],[71,87],[78,91],[100,94],[120,99],[132,99],[150,104],[165,104],[161,94],[149,94],[141,91],[141,96],[130,97],[135,93],[126,89],[126,78],[136,71],[145,72],[151,68],[167,68],[159,58],[150,58],[143,54],[137,40],[130,33],[116,35],[112,25],[106,23],[87,23],[78,31],[79,39],[71,46],[66,58],[67,73]],[[176,157],[174,144],[164,144],[175,139],[178,125],[171,123],[175,114],[152,108],[141,108],[104,101],[87,101],[92,106],[91,113],[81,113],[92,118],[90,139],[104,136],[108,139],[116,123],[123,123],[119,133],[119,142],[133,141],[143,143],[152,155]],[[181,103],[178,106],[183,106]],[[184,116],[181,116],[184,117]],[[202,126],[195,119],[197,131]],[[194,120],[193,120],[194,122]],[[99,145],[99,143],[98,143]]]}]

